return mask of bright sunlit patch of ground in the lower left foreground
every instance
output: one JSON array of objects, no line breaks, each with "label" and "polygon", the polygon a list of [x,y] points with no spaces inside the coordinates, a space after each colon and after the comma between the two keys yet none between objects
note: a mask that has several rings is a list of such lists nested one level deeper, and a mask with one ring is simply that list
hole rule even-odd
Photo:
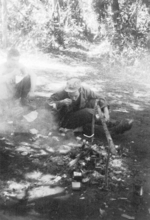
[{"label": "bright sunlit patch of ground in the lower left foreground", "polygon": [[58,187],[61,176],[44,175],[40,172],[25,174],[25,180],[15,182],[7,181],[6,187],[3,189],[3,195],[11,199],[28,199],[33,201],[38,198],[52,196],[64,192],[64,188]]}]

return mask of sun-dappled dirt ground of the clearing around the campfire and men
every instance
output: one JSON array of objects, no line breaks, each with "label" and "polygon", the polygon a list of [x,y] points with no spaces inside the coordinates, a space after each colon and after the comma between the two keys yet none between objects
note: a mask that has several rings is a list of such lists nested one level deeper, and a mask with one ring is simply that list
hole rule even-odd
[{"label": "sun-dappled dirt ground of the clearing around the campfire and men", "polygon": [[[127,69],[106,71],[99,59],[86,54],[62,52],[51,54],[46,63],[40,60],[41,65],[34,62],[39,65],[37,69],[32,66],[38,75],[33,101],[37,119],[27,123],[23,118],[16,124],[9,119],[1,126],[5,129],[0,139],[0,220],[149,220],[149,77],[135,77]],[[134,119],[130,131],[114,137],[120,150],[111,162],[118,160],[119,165],[109,169],[108,189],[101,180],[73,190],[68,155],[80,142],[72,134],[50,133],[52,118],[44,108],[46,97],[74,76],[106,97],[112,118]],[[31,128],[38,130],[37,139],[27,132]],[[105,138],[100,142],[107,145]]]}]

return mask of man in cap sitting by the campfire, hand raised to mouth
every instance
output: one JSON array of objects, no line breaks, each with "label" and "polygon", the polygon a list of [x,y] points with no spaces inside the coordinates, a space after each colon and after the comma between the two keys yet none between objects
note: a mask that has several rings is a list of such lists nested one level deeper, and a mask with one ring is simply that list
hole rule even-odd
[{"label": "man in cap sitting by the campfire, hand raised to mouth", "polygon": [[[95,100],[99,100],[99,106],[110,131],[124,133],[132,127],[132,120],[111,122],[109,107],[106,100],[99,94],[81,85],[79,79],[73,78],[67,82],[64,89],[54,93],[48,100],[48,106],[55,109],[55,115],[59,126],[67,129],[83,129],[84,134],[91,134],[92,117],[94,114]],[[95,121],[95,135],[99,134],[100,119]]]}]

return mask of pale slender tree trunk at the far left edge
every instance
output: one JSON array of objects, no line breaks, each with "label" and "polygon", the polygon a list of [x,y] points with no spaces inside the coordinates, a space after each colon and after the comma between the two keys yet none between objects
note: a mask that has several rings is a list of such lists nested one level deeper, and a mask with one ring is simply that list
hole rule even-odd
[{"label": "pale slender tree trunk at the far left edge", "polygon": [[2,0],[2,45],[7,47],[7,0]]}]

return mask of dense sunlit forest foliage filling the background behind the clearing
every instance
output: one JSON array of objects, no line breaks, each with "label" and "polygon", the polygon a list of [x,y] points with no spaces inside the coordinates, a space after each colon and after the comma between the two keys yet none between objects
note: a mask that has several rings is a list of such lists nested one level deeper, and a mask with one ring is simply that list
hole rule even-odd
[{"label": "dense sunlit forest foliage filling the background behind the clearing", "polygon": [[49,50],[76,45],[78,40],[107,41],[111,61],[122,55],[130,63],[149,49],[146,0],[10,0],[7,17],[8,46]]}]

